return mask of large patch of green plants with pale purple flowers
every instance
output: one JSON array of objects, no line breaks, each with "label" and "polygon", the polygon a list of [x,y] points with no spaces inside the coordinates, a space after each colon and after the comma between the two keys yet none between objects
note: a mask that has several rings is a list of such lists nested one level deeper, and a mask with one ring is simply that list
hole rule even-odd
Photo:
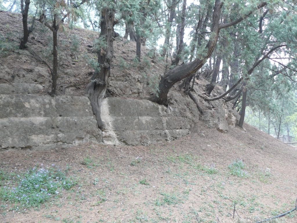
[{"label": "large patch of green plants with pale purple flowers", "polygon": [[0,198],[18,203],[17,210],[39,206],[77,183],[74,178],[67,177],[65,172],[53,167],[34,167],[19,175],[9,175],[4,180],[6,183],[0,187]]}]

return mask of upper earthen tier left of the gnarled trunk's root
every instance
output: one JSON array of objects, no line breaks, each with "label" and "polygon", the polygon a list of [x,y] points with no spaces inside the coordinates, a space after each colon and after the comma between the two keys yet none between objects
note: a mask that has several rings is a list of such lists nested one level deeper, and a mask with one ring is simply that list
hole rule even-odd
[{"label": "upper earthen tier left of the gnarled trunk's root", "polygon": [[87,97],[34,94],[1,94],[0,118],[7,117],[80,117],[92,116]]}]

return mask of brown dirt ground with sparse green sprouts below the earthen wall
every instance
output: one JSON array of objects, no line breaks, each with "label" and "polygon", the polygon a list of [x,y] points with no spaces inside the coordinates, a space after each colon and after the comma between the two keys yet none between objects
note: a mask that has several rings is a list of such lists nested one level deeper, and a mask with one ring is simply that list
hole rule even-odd
[{"label": "brown dirt ground with sparse green sprouts below the earthen wall", "polygon": [[[244,127],[222,134],[201,123],[188,136],[150,146],[1,152],[4,171],[54,164],[70,168],[79,183],[40,208],[16,212],[0,202],[0,222],[256,222],[292,209],[297,150]],[[236,159],[247,177],[230,175]],[[296,221],[295,211],[278,222]]]}]

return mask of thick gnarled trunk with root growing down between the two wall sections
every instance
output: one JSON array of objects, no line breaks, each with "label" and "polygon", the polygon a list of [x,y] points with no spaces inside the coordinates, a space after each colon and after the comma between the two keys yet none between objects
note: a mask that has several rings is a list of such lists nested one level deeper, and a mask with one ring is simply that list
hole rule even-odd
[{"label": "thick gnarled trunk with root growing down between the two wall sections", "polygon": [[99,69],[95,70],[94,75],[91,78],[91,82],[86,87],[86,92],[91,101],[92,110],[96,116],[97,124],[100,129],[102,129],[100,107],[106,92],[108,76],[110,74],[110,67],[112,65],[113,58],[113,21],[114,12],[108,8],[102,9],[100,37],[105,38],[106,46],[102,47],[98,52]]}]

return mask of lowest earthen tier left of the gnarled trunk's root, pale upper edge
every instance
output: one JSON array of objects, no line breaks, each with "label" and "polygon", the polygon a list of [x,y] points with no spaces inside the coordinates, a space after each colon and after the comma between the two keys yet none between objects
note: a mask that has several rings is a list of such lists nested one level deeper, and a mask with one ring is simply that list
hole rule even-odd
[{"label": "lowest earthen tier left of the gnarled trunk's root, pale upper edge", "polygon": [[38,149],[102,141],[93,116],[11,117],[0,119],[0,150]]}]

